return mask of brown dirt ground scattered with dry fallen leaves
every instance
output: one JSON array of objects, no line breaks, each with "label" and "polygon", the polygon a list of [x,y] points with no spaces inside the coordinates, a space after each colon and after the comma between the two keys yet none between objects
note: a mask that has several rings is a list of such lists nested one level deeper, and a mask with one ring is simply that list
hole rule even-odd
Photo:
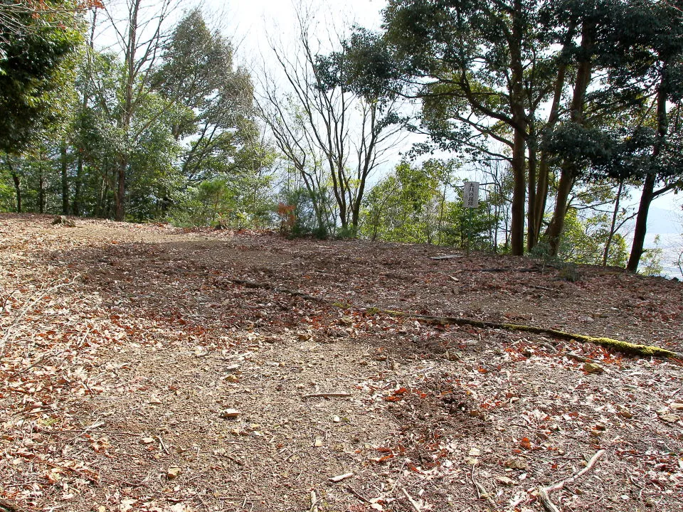
[{"label": "brown dirt ground scattered with dry fallen leaves", "polygon": [[51,220],[0,215],[2,512],[683,509],[683,361],[378,312],[683,352],[680,282]]}]

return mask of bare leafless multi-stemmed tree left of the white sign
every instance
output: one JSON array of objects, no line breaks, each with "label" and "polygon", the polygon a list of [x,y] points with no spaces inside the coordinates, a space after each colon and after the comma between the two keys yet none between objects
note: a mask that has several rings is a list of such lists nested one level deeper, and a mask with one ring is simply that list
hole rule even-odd
[{"label": "bare leafless multi-stemmed tree left of the white sign", "polygon": [[[396,104],[344,87],[339,70],[314,47],[312,18],[303,11],[298,16],[300,53],[288,55],[272,45],[290,94],[279,94],[274,82],[266,84],[261,111],[280,150],[318,198],[318,218],[324,217],[321,194],[329,178],[342,230],[353,232],[368,178],[397,132]],[[307,168],[307,161],[314,166]]]}]

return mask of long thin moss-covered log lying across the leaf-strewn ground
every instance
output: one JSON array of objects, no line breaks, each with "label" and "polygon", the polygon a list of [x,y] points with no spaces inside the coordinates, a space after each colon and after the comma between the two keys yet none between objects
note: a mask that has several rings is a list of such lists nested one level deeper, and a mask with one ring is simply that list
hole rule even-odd
[{"label": "long thin moss-covered log lying across the leaf-strewn ground", "polygon": [[[233,284],[239,284],[247,288],[269,289],[272,292],[284,293],[292,295],[293,297],[301,297],[302,299],[313,302],[329,304],[330,306],[338,307],[339,309],[362,309],[358,306],[354,306],[354,304],[342,304],[339,302],[332,302],[328,299],[324,299],[323,297],[314,297],[313,295],[305,294],[304,292],[299,292],[298,290],[280,288],[273,286],[272,284],[246,281],[244,279],[228,279],[228,282],[231,282]],[[669,351],[666,348],[650,345],[641,345],[640,343],[630,343],[628,341],[620,341],[613,338],[601,338],[595,336],[587,336],[586,334],[576,334],[566,331],[558,331],[557,329],[549,329],[547,327],[536,327],[520,324],[502,324],[499,322],[462,318],[460,316],[433,316],[412,314],[406,313],[405,311],[396,311],[394,309],[381,309],[377,307],[365,308],[365,311],[369,314],[381,313],[387,314],[389,316],[401,316],[404,318],[417,319],[431,324],[452,324],[458,326],[479,327],[480,329],[502,329],[504,331],[520,331],[529,332],[532,334],[544,334],[546,336],[551,336],[552,338],[556,339],[576,340],[581,341],[583,343],[593,343],[594,345],[600,345],[605,348],[611,348],[614,351],[626,353],[631,356],[657,357],[683,361],[683,353]]]}]

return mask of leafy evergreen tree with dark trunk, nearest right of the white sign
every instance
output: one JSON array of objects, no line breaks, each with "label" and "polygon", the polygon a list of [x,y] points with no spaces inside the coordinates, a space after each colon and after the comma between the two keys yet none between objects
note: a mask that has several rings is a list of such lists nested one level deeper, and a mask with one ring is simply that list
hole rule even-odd
[{"label": "leafy evergreen tree with dark trunk, nearest right of the white sign", "polygon": [[356,63],[351,80],[422,100],[423,129],[443,149],[481,155],[492,141],[507,147],[494,156],[507,159],[514,176],[515,255],[524,253],[529,107],[548,94],[534,72],[546,58],[538,12],[527,0],[391,0],[383,32],[359,31],[347,48]]}]

